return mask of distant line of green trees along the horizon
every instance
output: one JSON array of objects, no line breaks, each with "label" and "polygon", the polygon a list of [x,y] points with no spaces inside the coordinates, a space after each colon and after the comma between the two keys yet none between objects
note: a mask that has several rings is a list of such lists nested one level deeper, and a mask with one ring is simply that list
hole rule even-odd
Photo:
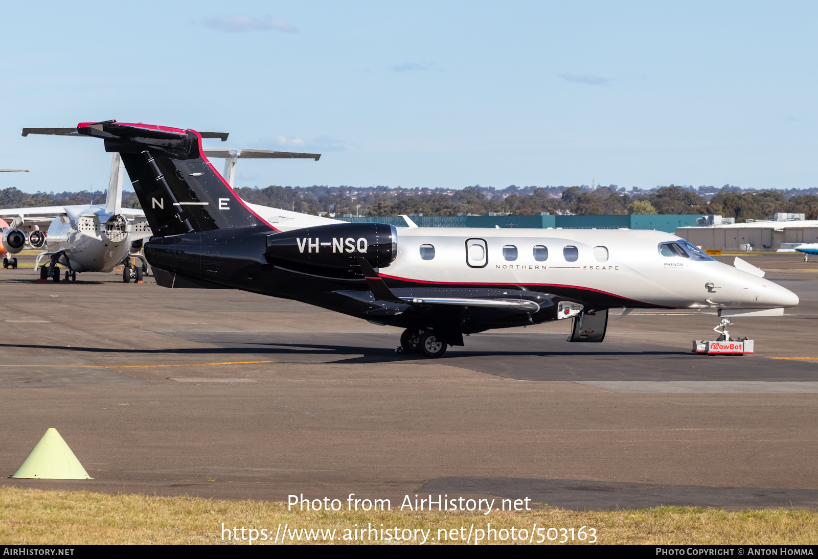
[{"label": "distant line of green trees along the horizon", "polygon": [[[703,190],[699,188],[699,190]],[[775,212],[803,213],[818,218],[818,196],[814,190],[744,190],[724,187],[700,195],[690,187],[664,186],[653,190],[618,189],[616,186],[526,187],[510,186],[495,190],[468,186],[462,190],[390,189],[378,186],[355,189],[349,186],[236,188],[250,203],[296,212],[322,215],[335,213],[384,217],[402,213],[425,216],[456,216],[461,213],[484,215],[488,212],[534,215],[537,212],[578,215],[665,213],[708,214],[735,217],[736,221],[760,220]],[[105,203],[105,191],[80,191],[27,194],[16,188],[0,190],[0,207],[34,208],[53,205]],[[789,195],[789,196],[788,196]],[[133,192],[123,196],[125,208],[139,208]]]}]

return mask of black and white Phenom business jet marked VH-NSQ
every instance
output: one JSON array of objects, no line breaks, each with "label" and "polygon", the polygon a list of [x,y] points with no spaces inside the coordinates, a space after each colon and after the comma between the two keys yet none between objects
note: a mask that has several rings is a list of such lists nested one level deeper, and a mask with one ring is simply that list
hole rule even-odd
[{"label": "black and white Phenom business jet marked VH-NSQ", "polygon": [[798,304],[754,266],[722,264],[658,231],[281,230],[236,196],[193,130],[115,121],[78,130],[122,155],[160,285],[240,288],[399,326],[402,347],[426,356],[463,345],[463,334],[572,317],[571,341],[601,342],[612,307],[781,314]]}]

